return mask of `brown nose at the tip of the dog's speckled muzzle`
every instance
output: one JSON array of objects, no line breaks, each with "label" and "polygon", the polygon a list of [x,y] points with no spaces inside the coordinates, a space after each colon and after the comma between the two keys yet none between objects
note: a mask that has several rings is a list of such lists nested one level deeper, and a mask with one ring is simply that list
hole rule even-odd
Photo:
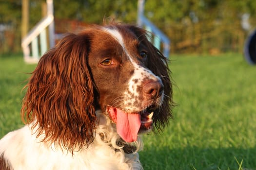
[{"label": "brown nose at the tip of the dog's speckled muzzle", "polygon": [[158,98],[163,93],[163,84],[162,82],[148,82],[143,86],[143,93],[145,96],[149,97],[150,99]]}]

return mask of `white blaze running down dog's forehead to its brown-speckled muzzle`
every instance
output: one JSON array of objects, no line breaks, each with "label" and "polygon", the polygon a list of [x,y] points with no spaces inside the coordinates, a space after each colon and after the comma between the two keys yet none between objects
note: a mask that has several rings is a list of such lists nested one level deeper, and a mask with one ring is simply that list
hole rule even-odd
[{"label": "white blaze running down dog's forehead to its brown-speckled muzzle", "polygon": [[146,79],[151,79],[154,81],[161,81],[158,76],[156,76],[151,70],[139,66],[133,58],[128,53],[127,49],[125,48],[125,44],[123,41],[123,36],[120,32],[115,28],[103,28],[108,34],[111,34],[121,45],[123,51],[128,56],[129,60],[131,61],[132,65],[134,66],[134,73],[130,77],[128,82],[128,89],[124,92],[124,107],[126,110],[138,110],[138,104],[134,105],[133,103],[138,102],[138,97],[141,96],[141,92],[138,90],[138,86],[142,85],[142,81]]}]

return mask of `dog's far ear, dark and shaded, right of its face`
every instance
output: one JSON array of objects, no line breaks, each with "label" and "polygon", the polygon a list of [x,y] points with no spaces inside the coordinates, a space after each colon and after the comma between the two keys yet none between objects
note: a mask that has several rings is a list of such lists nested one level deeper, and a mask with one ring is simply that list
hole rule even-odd
[{"label": "dog's far ear, dark and shaded, right of its face", "polygon": [[172,118],[173,90],[171,82],[171,71],[168,67],[169,60],[166,58],[149,40],[147,32],[136,26],[129,26],[138,37],[139,41],[147,47],[148,54],[148,68],[157,76],[160,77],[164,85],[164,99],[161,107],[154,112],[153,120],[155,127],[161,130],[169,123],[168,119]]}]

